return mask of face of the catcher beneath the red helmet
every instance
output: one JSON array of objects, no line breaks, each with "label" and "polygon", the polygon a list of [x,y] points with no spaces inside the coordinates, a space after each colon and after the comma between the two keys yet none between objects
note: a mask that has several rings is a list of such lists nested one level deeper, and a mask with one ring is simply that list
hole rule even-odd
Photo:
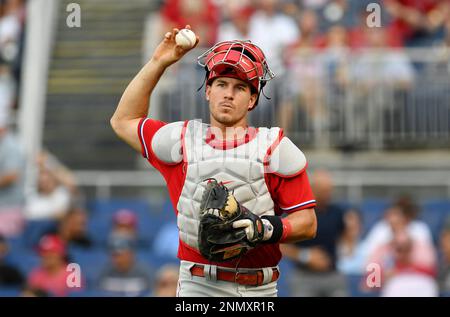
[{"label": "face of the catcher beneath the red helmet", "polygon": [[247,125],[247,112],[256,102],[250,86],[239,79],[219,77],[206,87],[211,124],[226,127]]}]

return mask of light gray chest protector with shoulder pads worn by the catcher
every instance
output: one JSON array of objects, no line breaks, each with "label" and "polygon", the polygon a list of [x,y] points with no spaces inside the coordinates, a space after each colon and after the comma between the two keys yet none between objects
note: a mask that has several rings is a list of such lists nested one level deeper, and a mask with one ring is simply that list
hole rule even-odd
[{"label": "light gray chest protector with shoulder pads worn by the catcher", "polygon": [[174,164],[184,159],[187,163],[177,204],[177,224],[180,239],[195,249],[198,249],[200,202],[206,179],[215,178],[226,184],[234,191],[237,201],[254,214],[274,215],[274,202],[264,173],[290,177],[306,166],[303,153],[288,138],[280,139],[280,128],[259,128],[249,142],[230,149],[207,144],[207,130],[208,125],[196,120],[187,125],[174,122],[158,130],[152,140],[153,152],[159,160]]}]

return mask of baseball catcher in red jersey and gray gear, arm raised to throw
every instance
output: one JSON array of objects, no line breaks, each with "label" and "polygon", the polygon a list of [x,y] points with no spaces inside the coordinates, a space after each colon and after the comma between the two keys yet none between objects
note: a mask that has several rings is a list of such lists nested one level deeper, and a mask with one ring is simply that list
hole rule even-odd
[{"label": "baseball catcher in red jersey and gray gear, arm raised to throw", "polygon": [[281,128],[248,125],[274,77],[250,41],[220,42],[198,57],[209,123],[148,118],[159,79],[191,49],[176,44],[178,32],[166,33],[129,84],[112,127],[167,182],[179,233],[178,296],[276,296],[279,243],[316,234],[306,157]]}]

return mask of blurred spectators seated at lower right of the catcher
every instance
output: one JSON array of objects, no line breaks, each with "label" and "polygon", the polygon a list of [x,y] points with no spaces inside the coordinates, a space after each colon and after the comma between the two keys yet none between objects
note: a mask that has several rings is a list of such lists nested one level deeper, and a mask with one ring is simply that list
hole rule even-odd
[{"label": "blurred spectators seated at lower right of the catcher", "polygon": [[[424,214],[410,196],[363,214],[333,198],[327,171],[312,178],[319,223],[313,240],[282,245],[292,270],[292,296],[449,296],[450,204],[443,214]],[[371,214],[372,213],[372,214]],[[364,219],[364,216],[379,218]]]}]

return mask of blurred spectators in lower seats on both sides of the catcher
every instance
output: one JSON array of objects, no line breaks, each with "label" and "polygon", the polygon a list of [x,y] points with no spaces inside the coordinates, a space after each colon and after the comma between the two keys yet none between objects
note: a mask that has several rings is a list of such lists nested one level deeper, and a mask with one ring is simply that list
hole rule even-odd
[{"label": "blurred spectators in lower seats on both sides of the catcher", "polygon": [[[80,203],[76,185],[53,173],[41,173],[40,198],[21,206],[21,226],[11,215],[0,220],[0,295],[175,296],[178,229],[170,202]],[[318,233],[281,245],[281,295],[450,295],[449,201],[419,204],[401,195],[355,204],[335,195],[330,172],[311,176]],[[2,219],[8,212],[0,209]],[[80,265],[79,287],[67,283],[69,263]]]}]

